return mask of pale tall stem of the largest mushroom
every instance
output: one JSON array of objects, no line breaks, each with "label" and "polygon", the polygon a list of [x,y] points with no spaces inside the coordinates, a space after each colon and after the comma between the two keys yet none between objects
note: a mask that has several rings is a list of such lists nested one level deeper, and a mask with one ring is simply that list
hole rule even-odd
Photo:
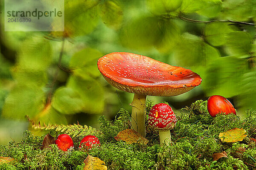
[{"label": "pale tall stem of the largest mushroom", "polygon": [[145,130],[145,95],[134,94],[134,99],[131,102],[131,125],[134,130],[139,132],[143,137],[146,136]]}]

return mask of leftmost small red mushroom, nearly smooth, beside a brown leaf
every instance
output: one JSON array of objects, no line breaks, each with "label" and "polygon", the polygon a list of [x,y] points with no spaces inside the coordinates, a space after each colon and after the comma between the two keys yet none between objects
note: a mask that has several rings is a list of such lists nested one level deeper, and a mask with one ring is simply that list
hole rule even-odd
[{"label": "leftmost small red mushroom, nearly smooth, beside a brown leaf", "polygon": [[55,140],[55,144],[58,145],[58,148],[67,151],[72,150],[74,147],[73,140],[67,134],[61,134],[58,136],[58,139]]}]

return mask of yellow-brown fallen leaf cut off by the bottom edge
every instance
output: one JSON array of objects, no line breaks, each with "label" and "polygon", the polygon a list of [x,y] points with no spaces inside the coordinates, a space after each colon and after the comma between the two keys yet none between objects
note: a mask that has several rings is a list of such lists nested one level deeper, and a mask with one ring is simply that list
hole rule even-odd
[{"label": "yellow-brown fallen leaf cut off by the bottom edge", "polygon": [[105,162],[99,158],[88,155],[84,160],[84,170],[107,170]]}]

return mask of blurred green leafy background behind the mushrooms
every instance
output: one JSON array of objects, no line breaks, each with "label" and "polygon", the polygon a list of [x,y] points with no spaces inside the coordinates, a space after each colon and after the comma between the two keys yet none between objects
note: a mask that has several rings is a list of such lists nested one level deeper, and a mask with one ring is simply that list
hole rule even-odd
[{"label": "blurred green leafy background behind the mushrooms", "polygon": [[245,116],[256,109],[255,6],[255,0],[65,0],[64,32],[4,31],[0,14],[0,144],[20,140],[33,124],[98,127],[99,115],[130,112],[133,94],[113,88],[97,69],[97,59],[114,51],[202,77],[180,96],[148,96],[154,103],[169,102],[179,113],[197,99],[222,95]]}]

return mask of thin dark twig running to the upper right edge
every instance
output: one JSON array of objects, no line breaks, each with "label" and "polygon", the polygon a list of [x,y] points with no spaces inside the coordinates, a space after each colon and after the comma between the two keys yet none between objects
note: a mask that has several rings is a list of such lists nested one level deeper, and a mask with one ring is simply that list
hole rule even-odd
[{"label": "thin dark twig running to the upper right edge", "polygon": [[194,19],[191,19],[191,18],[188,18],[188,17],[183,17],[183,16],[181,16],[181,15],[178,15],[177,17],[180,18],[180,19],[183,20],[183,21],[188,21],[188,22],[191,22],[191,23],[204,23],[204,24],[207,24],[207,23],[214,23],[214,22],[223,22],[223,23],[230,22],[230,23],[237,23],[237,24],[245,24],[245,25],[250,25],[250,26],[256,26],[255,23],[246,23],[246,22],[234,21],[234,20],[210,20],[210,21],[202,21],[202,20],[194,20]]}]

